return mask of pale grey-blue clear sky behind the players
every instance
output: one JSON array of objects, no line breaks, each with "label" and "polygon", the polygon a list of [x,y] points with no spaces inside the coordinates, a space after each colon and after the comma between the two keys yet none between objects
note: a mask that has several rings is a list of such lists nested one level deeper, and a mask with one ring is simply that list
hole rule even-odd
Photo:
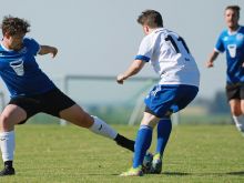
[{"label": "pale grey-blue clear sky behind the players", "polygon": [[[177,32],[187,43],[201,72],[199,96],[214,98],[225,87],[225,54],[213,69],[205,62],[221,31],[224,9],[241,7],[244,0],[0,0],[0,18],[11,14],[31,24],[28,34],[40,44],[59,49],[55,59],[38,57],[40,68],[53,80],[68,74],[116,75],[132,62],[144,37],[136,23],[145,9],[162,13],[164,27]],[[139,77],[156,77],[146,64]],[[2,85],[2,84],[1,84]],[[3,91],[4,87],[0,87]]]}]

